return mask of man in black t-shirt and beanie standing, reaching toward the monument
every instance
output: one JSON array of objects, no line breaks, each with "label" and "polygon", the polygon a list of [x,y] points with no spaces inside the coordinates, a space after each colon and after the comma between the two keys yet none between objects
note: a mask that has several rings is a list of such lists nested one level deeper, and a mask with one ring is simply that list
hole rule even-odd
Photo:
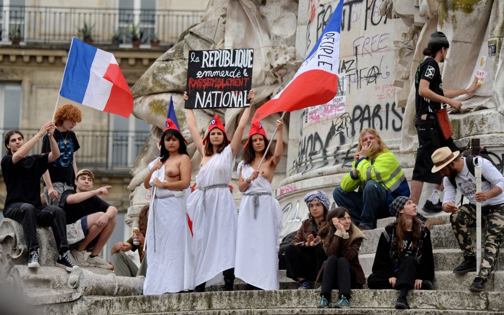
[{"label": "man in black t-shirt and beanie standing, reaching toward the monument", "polygon": [[442,210],[439,197],[443,190],[441,174],[439,172],[430,172],[434,166],[431,155],[441,147],[448,147],[452,151],[458,150],[451,137],[444,138],[437,122],[436,112],[442,108],[443,103],[448,104],[451,108],[460,109],[462,103],[450,98],[472,93],[479,87],[475,79],[472,85],[465,90],[443,89],[438,63],[444,62],[449,46],[450,43],[442,32],[431,34],[427,48],[423,51],[423,55],[427,56],[427,58],[420,62],[415,75],[415,127],[418,133],[419,147],[413,169],[411,199],[414,204],[418,204],[423,183],[436,184],[437,186],[434,188],[431,197],[423,206],[423,211],[429,213]]}]

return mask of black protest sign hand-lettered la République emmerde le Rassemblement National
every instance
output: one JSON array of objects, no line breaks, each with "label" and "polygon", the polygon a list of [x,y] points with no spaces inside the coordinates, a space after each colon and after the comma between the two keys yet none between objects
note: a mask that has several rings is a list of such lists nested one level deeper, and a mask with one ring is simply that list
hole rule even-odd
[{"label": "black protest sign hand-lettered la R\u00e9publique emmerde le Rassemblement National", "polygon": [[250,106],[253,59],[253,49],[189,51],[185,108]]}]

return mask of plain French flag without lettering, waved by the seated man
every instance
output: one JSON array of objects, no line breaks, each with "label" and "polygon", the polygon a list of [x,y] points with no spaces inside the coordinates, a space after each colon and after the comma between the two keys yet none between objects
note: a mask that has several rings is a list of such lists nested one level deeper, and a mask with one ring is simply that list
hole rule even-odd
[{"label": "plain French flag without lettering, waved by the seated man", "polygon": [[73,37],[60,95],[74,102],[128,118],[133,95],[113,54]]}]

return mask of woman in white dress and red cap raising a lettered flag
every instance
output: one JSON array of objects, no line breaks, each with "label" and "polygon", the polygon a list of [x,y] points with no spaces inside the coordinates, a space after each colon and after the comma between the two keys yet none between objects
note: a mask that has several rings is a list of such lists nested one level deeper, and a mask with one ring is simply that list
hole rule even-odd
[{"label": "woman in white dress and red cap raising a lettered flag", "polygon": [[[283,150],[283,122],[277,120],[278,138],[274,155],[261,124],[251,126],[238,164],[238,180],[243,192],[238,213],[235,275],[247,283],[247,289],[278,290],[278,250],[282,229],[282,208],[271,196],[273,173]],[[261,169],[256,171],[266,154]]]}]

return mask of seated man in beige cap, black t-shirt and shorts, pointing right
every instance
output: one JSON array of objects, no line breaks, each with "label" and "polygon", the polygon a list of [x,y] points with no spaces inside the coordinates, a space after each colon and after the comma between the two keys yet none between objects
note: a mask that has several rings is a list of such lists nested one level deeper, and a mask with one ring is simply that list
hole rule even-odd
[{"label": "seated man in beige cap, black t-shirt and shorts, pointing right", "polygon": [[[89,169],[81,169],[75,177],[77,190],[65,190],[61,195],[60,207],[66,213],[67,233],[82,235],[83,238],[70,244],[75,262],[81,266],[112,269],[111,264],[98,256],[114,231],[117,214],[115,207],[98,196],[107,196],[112,186],[92,190],[93,182],[93,173]],[[91,255],[85,260],[88,249]]]}]

